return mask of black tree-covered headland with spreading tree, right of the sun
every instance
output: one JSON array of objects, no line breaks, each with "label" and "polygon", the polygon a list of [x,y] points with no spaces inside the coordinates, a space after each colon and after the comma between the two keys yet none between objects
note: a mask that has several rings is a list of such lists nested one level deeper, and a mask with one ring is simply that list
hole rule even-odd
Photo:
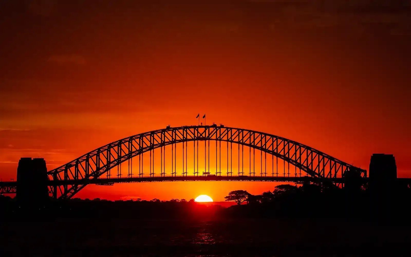
[{"label": "black tree-covered headland with spreading tree, right of the sun", "polygon": [[227,210],[231,217],[393,218],[409,213],[411,189],[373,192],[367,188],[350,190],[306,183],[277,185],[273,191],[258,195],[236,190],[225,198],[238,204]]}]

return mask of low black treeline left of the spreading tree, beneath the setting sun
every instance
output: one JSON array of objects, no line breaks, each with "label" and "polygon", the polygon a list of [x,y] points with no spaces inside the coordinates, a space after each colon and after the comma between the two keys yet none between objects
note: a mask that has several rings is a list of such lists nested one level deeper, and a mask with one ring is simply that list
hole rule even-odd
[{"label": "low black treeline left of the spreading tree, beneath the setting sun", "polygon": [[42,203],[22,204],[16,199],[0,196],[0,216],[9,218],[93,218],[110,220],[115,218],[139,219],[208,219],[220,215],[222,206],[198,204],[191,199],[172,199],[160,201],[147,200],[116,200],[104,199],[69,199],[53,200]]}]

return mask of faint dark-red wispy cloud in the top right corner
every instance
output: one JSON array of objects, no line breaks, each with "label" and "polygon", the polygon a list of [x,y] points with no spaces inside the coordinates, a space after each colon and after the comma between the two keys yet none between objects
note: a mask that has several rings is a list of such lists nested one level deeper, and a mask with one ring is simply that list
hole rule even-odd
[{"label": "faint dark-red wispy cloud in the top right corner", "polygon": [[[411,1],[408,3],[389,0],[329,1],[321,5],[316,1],[264,1],[278,6],[278,14],[271,28],[297,28],[321,31],[334,28],[356,33],[385,32],[408,35],[411,25]],[[328,30],[327,30],[328,31]]]}]

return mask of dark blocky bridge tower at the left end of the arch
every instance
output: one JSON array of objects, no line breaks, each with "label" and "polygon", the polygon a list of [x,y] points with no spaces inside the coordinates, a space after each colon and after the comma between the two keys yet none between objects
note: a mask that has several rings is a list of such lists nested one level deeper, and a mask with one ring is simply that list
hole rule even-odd
[{"label": "dark blocky bridge tower at the left end of the arch", "polygon": [[47,167],[43,158],[21,158],[17,167],[16,199],[25,204],[48,199]]}]

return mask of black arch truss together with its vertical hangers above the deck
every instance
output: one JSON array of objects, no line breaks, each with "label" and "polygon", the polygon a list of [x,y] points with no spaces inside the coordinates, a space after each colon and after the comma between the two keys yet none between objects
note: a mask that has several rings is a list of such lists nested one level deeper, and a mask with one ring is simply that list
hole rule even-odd
[{"label": "black arch truss together with its vertical hangers above the deck", "polygon": [[[175,155],[176,146],[175,144],[182,143],[183,150],[183,166],[182,166],[182,176],[188,176],[187,172],[187,158],[184,166],[184,147],[186,147],[187,156],[187,145],[188,142],[193,141],[190,146],[194,146],[194,153],[197,144],[197,151],[199,147],[199,141],[208,141],[208,146],[210,149],[210,141],[216,141],[216,169],[215,175],[221,176],[221,163],[220,169],[217,169],[217,144],[220,147],[220,162],[221,162],[221,147],[223,142],[223,147],[227,148],[227,163],[226,172],[223,172],[224,176],[233,176],[232,169],[229,170],[229,146],[232,149],[232,144],[238,144],[238,159],[240,160],[240,146],[248,147],[251,149],[261,151],[261,162],[263,160],[262,153],[264,155],[272,155],[272,159],[276,158],[282,160],[287,164],[291,164],[299,170],[295,172],[295,176],[298,174],[301,176],[301,171],[305,175],[312,177],[314,180],[321,182],[321,180],[332,180],[333,178],[344,178],[344,175],[349,172],[350,174],[356,174],[356,176],[367,177],[367,171],[360,169],[351,164],[338,160],[330,155],[327,155],[319,150],[311,148],[309,146],[300,144],[296,141],[292,141],[283,137],[278,137],[272,134],[267,134],[263,132],[258,132],[254,130],[245,130],[233,127],[224,127],[223,125],[210,125],[210,126],[182,126],[182,127],[166,127],[161,130],[153,130],[150,132],[145,132],[141,134],[136,134],[131,137],[120,139],[118,141],[112,142],[100,148],[97,148],[81,157],[73,160],[67,164],[64,164],[56,169],[48,171],[49,178],[49,193],[54,198],[68,199],[72,198],[77,192],[83,189],[88,184],[98,183],[101,178],[105,178],[104,181],[110,181],[111,178],[121,178],[121,177],[143,177],[147,174],[143,174],[142,160],[143,153],[150,152],[150,173],[148,176],[154,177],[154,168],[151,169],[151,163],[154,165],[154,149],[160,150],[161,160],[165,160],[166,146],[171,146],[172,156]],[[196,143],[197,142],[197,143]],[[226,142],[226,143],[224,143]],[[184,146],[185,144],[185,146]],[[174,147],[173,147],[174,146]],[[206,146],[204,144],[204,146]],[[174,150],[175,149],[175,150]],[[151,157],[152,153],[152,157]],[[205,152],[204,152],[205,153]],[[244,150],[242,151],[244,155]],[[198,152],[197,152],[198,156]],[[254,155],[253,155],[254,156]],[[133,167],[133,157],[139,159],[139,173],[133,174],[131,167]],[[210,155],[209,155],[210,157]],[[233,152],[231,151],[231,158],[233,157]],[[151,160],[152,158],[152,160]],[[135,159],[134,159],[135,160]],[[195,169],[195,156],[194,156],[194,176],[199,176],[197,158],[197,171]],[[244,171],[240,171],[240,163],[238,160],[238,176],[244,176]],[[244,158],[242,158],[244,160]],[[124,170],[121,170],[122,163],[128,162],[127,175]],[[276,162],[276,163],[277,163]],[[231,160],[231,165],[233,161]],[[174,167],[173,167],[174,165]],[[255,176],[255,170],[252,172],[251,169],[251,157],[250,157],[250,170],[249,176]],[[205,163],[206,166],[206,163]],[[204,166],[204,167],[205,167]],[[260,176],[267,176],[266,170],[263,172],[263,165],[261,164]],[[267,166],[266,166],[267,167]],[[210,169],[210,165],[208,165]],[[273,167],[272,167],[273,169]],[[116,170],[117,174],[112,175],[113,171]],[[181,170],[181,169],[180,169]],[[203,174],[210,175],[205,169]],[[213,174],[213,176],[215,176]],[[258,174],[257,174],[258,175]],[[290,176],[288,174],[279,174],[272,171],[271,176]],[[157,174],[158,176],[158,174]],[[165,162],[161,162],[160,174],[159,176],[166,176],[166,165]],[[177,171],[175,168],[175,161],[173,163],[173,158],[171,158],[171,177],[177,176]],[[113,181],[115,180],[113,179]]]}]

